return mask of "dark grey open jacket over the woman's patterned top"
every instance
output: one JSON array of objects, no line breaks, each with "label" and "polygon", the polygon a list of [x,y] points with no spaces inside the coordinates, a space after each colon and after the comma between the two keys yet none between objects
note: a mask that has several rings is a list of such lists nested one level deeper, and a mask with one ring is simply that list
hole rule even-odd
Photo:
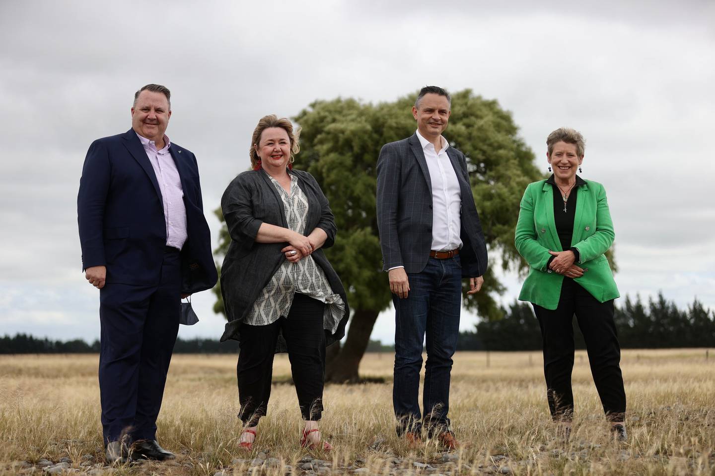
[{"label": "dark grey open jacket over the woman's patterned top", "polygon": [[[292,170],[308,201],[308,216],[305,233],[321,228],[327,234],[322,248],[335,243],[335,219],[317,181],[310,173]],[[231,243],[221,267],[221,294],[228,323],[221,342],[239,340],[242,321],[252,308],[272,275],[285,260],[280,250],[288,243],[256,243],[255,238],[261,223],[270,223],[287,228],[283,201],[265,171],[240,173],[231,181],[221,198],[221,209],[226,220]],[[339,294],[345,303],[335,334],[325,331],[326,345],[340,340],[345,335],[345,324],[350,315],[347,296],[340,278],[332,269],[322,248],[312,253],[315,263],[325,272],[332,292]],[[279,338],[276,352],[285,352],[285,340]]]}]

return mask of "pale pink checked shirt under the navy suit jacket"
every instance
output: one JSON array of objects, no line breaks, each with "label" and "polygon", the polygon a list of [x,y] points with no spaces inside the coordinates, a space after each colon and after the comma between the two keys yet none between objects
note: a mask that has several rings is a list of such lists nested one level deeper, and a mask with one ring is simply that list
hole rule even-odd
[{"label": "pale pink checked shirt under the navy suit jacket", "polygon": [[164,148],[161,151],[157,151],[154,141],[149,141],[139,134],[137,137],[144,146],[144,152],[147,153],[149,162],[152,163],[157,182],[159,182],[159,190],[162,191],[164,218],[167,221],[167,246],[173,246],[180,250],[187,238],[186,208],[184,207],[184,191],[179,171],[172,154],[169,153],[171,145],[169,137],[164,136]]}]

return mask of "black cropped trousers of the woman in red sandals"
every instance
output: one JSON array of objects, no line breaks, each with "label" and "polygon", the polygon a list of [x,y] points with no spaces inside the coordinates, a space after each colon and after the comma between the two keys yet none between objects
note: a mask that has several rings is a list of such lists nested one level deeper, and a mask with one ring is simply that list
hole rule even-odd
[{"label": "black cropped trousers of the woman in red sandals", "polygon": [[295,293],[287,318],[269,325],[242,325],[236,374],[241,412],[246,426],[266,415],[273,375],[273,356],[280,331],[288,348],[290,370],[304,420],[320,420],[325,382],[325,304]]}]

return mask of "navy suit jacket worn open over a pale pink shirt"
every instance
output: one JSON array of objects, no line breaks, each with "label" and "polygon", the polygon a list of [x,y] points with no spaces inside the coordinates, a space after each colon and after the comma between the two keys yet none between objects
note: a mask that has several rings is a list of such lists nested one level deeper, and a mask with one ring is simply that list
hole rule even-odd
[{"label": "navy suit jacket worn open over a pale pink shirt", "polygon": [[[212,288],[217,273],[194,154],[172,143],[184,191],[188,237],[181,251],[184,294]],[[154,168],[132,129],[89,146],[77,196],[82,268],[107,267],[107,283],[156,285],[167,228]]]}]

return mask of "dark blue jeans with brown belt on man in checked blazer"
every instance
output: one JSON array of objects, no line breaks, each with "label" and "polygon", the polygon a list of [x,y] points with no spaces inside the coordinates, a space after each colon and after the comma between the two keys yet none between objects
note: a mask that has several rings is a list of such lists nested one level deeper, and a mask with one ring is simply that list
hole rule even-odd
[{"label": "dark blue jeans with brown belt on man in checked blazer", "polygon": [[405,299],[393,294],[395,305],[395,375],[393,406],[398,435],[420,432],[422,417],[418,394],[422,349],[427,336],[427,363],[423,390],[424,424],[430,436],[448,429],[452,356],[457,348],[462,300],[459,255],[429,258],[420,273],[408,273],[410,292]]}]

